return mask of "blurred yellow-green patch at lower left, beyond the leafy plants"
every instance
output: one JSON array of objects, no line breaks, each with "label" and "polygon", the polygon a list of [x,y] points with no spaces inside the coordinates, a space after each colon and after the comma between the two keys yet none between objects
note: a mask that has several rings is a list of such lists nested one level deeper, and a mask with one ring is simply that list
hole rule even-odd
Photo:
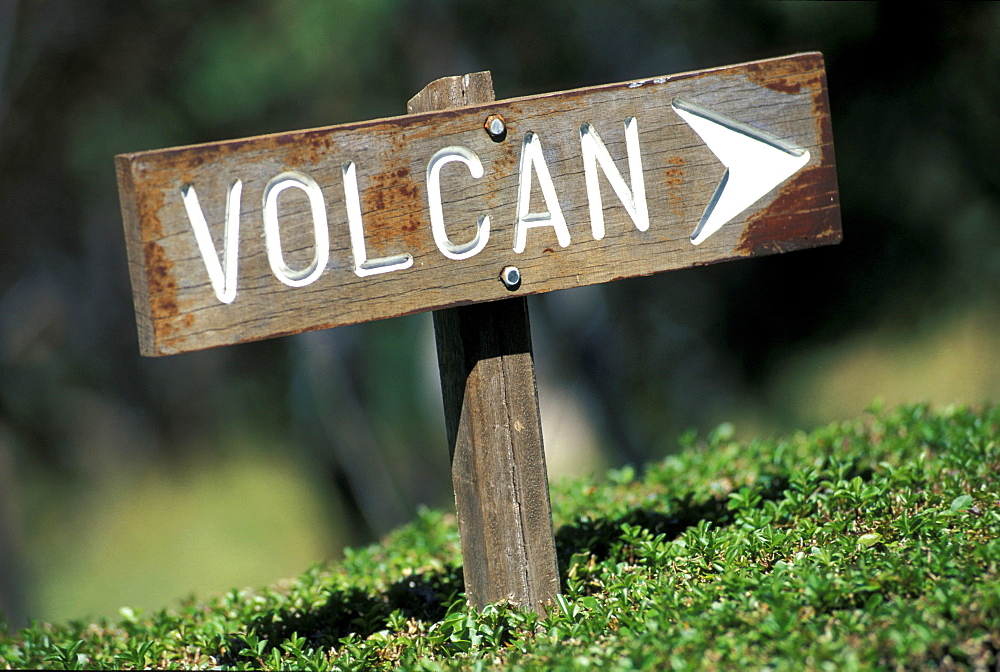
[{"label": "blurred yellow-green patch at lower left, beyond the leafy plants", "polygon": [[[183,471],[117,474],[73,507],[33,507],[62,516],[27,530],[27,560],[47,577],[35,613],[154,609],[218,592],[233,581],[234,565],[252,585],[334,557],[349,531],[330,515],[319,484],[308,487],[304,467],[285,459],[280,443],[267,455],[245,443],[235,453],[206,450]],[[114,589],[92,580],[101,576],[113,577]]]}]

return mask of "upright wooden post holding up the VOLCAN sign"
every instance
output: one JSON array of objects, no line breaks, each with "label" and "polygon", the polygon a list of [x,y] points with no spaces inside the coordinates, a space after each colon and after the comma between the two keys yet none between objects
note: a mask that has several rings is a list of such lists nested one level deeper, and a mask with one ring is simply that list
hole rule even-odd
[{"label": "upright wooden post holding up the VOLCAN sign", "polygon": [[[428,84],[407,111],[493,100],[490,73],[476,72]],[[434,333],[466,595],[544,613],[559,573],[527,301],[435,311]]]}]

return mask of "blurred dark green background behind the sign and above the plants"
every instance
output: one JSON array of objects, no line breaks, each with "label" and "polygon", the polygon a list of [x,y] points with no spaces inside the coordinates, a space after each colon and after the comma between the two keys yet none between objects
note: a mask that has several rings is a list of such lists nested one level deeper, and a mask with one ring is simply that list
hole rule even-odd
[{"label": "blurred dark green background behind the sign and above the plants", "polygon": [[428,315],[139,357],[113,156],[820,50],[844,243],[529,301],[550,475],[1000,396],[1000,4],[0,0],[0,612],[259,586],[452,506]]}]

